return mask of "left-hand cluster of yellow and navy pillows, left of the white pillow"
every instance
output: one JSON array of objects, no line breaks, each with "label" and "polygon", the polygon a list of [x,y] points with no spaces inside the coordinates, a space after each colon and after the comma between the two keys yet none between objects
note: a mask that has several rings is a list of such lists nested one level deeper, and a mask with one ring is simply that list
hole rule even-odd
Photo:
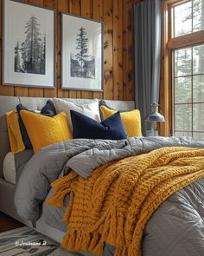
[{"label": "left-hand cluster of yellow and navy pillows, left of the white pillow", "polygon": [[7,113],[7,127],[10,137],[12,153],[19,153],[24,149],[40,148],[56,142],[72,139],[72,132],[67,125],[66,113],[56,115],[54,103],[48,101],[41,108],[41,114],[19,104],[16,111]]}]

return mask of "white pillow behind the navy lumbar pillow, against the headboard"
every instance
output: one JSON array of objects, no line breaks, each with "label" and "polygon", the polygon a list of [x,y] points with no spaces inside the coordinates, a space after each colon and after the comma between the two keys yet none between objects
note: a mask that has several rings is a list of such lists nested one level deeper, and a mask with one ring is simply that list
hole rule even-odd
[{"label": "white pillow behind the navy lumbar pillow, against the headboard", "polygon": [[62,99],[54,98],[54,106],[58,112],[64,111],[67,113],[67,121],[69,127],[73,130],[73,124],[71,120],[70,110],[80,112],[80,114],[86,115],[96,121],[100,121],[99,115],[99,100],[94,99],[92,102],[80,105],[73,102],[67,102]]}]

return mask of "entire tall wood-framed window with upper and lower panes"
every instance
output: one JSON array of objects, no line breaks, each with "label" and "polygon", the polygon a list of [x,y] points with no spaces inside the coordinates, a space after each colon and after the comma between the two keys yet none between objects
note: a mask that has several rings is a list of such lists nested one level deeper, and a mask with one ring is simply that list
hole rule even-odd
[{"label": "entire tall wood-framed window with upper and lower panes", "polygon": [[168,62],[164,59],[163,64],[169,65],[163,76],[168,75],[164,81],[171,92],[169,126],[175,136],[204,141],[204,0],[167,0],[166,7],[168,30],[163,35]]}]

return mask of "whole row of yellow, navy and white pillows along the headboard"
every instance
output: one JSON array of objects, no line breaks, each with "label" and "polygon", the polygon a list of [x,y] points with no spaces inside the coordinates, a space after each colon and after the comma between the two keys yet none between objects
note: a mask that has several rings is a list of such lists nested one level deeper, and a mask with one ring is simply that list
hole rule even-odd
[{"label": "whole row of yellow, navy and white pillows along the headboard", "polygon": [[81,105],[54,98],[41,108],[40,114],[22,104],[16,110],[18,115],[16,111],[6,115],[13,153],[32,148],[37,152],[72,138],[124,140],[142,135],[138,109],[116,111],[97,99]]}]

